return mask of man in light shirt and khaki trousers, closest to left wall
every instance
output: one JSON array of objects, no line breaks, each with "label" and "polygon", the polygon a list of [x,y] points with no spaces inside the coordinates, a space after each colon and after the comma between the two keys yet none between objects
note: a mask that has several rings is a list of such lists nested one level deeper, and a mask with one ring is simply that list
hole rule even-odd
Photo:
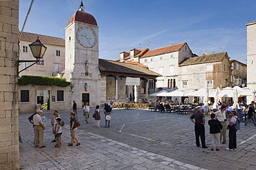
[{"label": "man in light shirt and khaki trousers, closest to left wall", "polygon": [[44,140],[44,124],[41,118],[41,114],[43,113],[42,110],[37,109],[35,111],[35,116],[33,116],[33,124],[35,128],[35,147],[43,148],[46,147],[43,145],[43,140]]}]

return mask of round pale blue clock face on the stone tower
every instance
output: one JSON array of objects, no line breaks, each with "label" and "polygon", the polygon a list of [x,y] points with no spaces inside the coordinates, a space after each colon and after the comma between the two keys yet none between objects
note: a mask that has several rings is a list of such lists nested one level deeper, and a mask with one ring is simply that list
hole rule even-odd
[{"label": "round pale blue clock face on the stone tower", "polygon": [[80,28],[77,30],[77,41],[83,47],[93,47],[96,41],[96,34],[91,28]]}]

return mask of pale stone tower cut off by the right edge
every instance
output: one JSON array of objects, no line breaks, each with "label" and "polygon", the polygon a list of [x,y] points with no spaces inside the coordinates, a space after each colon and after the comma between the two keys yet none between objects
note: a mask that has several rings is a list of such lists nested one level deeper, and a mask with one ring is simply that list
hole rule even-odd
[{"label": "pale stone tower cut off by the right edge", "polygon": [[[247,26],[247,87],[256,89],[256,21],[246,24]],[[247,102],[255,100],[247,98]]]}]

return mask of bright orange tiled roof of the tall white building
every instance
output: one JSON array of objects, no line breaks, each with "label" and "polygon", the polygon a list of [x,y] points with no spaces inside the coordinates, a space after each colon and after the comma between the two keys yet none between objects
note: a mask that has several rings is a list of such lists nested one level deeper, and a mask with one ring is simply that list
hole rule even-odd
[{"label": "bright orange tiled roof of the tall white building", "polygon": [[185,45],[186,43],[180,43],[177,45],[171,45],[168,47],[161,47],[158,48],[156,50],[148,50],[145,54],[143,54],[142,56],[140,56],[140,58],[145,58],[145,57],[149,57],[149,56],[156,56],[156,55],[161,55],[161,54],[167,54],[170,52],[176,52],[181,50],[181,47],[183,47],[183,45]]}]

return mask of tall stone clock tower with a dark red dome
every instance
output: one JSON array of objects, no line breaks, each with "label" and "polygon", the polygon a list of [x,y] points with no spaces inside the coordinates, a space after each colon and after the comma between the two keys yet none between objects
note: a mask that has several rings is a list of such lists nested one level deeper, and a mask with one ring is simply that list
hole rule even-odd
[{"label": "tall stone clock tower with a dark red dome", "polygon": [[[65,28],[65,73],[71,82],[71,98],[81,108],[100,105],[100,70],[98,24],[88,12],[80,9],[68,20]],[[70,101],[71,103],[72,101]]]}]

